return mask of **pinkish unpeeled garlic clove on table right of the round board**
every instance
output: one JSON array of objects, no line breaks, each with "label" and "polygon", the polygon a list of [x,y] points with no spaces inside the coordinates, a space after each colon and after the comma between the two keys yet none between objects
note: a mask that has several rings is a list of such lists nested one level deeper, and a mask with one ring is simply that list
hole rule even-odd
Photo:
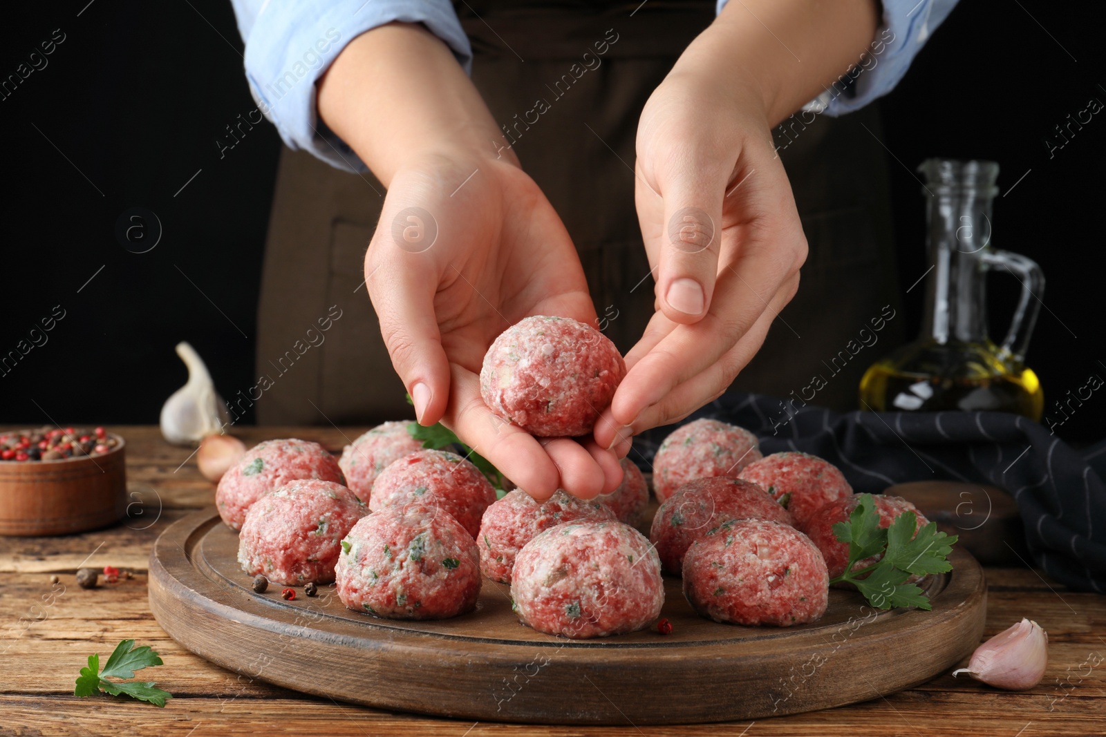
[{"label": "pinkish unpeeled garlic clove on table right of the round board", "polygon": [[998,688],[1024,691],[1041,683],[1047,666],[1048,633],[1023,618],[977,647],[968,667],[952,675],[967,673]]}]

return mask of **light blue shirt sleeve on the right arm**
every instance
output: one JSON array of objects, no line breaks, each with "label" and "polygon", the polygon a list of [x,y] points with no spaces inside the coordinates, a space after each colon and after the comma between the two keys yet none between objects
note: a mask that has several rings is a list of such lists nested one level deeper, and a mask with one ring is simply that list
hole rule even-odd
[{"label": "light blue shirt sleeve on the right arm", "polygon": [[[899,83],[910,62],[926,45],[958,0],[883,0],[883,22],[856,65],[842,70],[837,81],[804,106],[832,117],[858,110]],[[722,12],[728,0],[718,0]]]}]

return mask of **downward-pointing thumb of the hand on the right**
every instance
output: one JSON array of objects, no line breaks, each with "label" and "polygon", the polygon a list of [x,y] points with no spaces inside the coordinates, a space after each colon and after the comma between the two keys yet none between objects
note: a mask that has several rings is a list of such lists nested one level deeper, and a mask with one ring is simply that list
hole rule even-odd
[{"label": "downward-pointing thumb of the hand on the right", "polygon": [[[660,185],[665,207],[657,297],[665,316],[685,325],[699,322],[710,308],[718,274],[726,177],[708,167],[687,167]],[[706,173],[706,176],[705,176]]]}]

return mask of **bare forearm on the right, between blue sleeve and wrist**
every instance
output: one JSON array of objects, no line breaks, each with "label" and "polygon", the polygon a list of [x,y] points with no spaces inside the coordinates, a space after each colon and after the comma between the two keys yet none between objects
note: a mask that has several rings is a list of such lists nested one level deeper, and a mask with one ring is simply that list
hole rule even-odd
[{"label": "bare forearm on the right, between blue sleeve and wrist", "polygon": [[723,70],[776,125],[859,63],[878,21],[878,0],[730,0],[674,73]]}]

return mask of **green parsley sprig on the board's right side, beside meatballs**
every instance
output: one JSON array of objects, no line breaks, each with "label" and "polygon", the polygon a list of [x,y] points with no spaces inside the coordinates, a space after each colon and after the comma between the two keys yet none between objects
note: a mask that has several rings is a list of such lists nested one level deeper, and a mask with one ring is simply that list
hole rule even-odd
[{"label": "green parsley sprig on the board's right side, beside meatballs", "polygon": [[[932,609],[926,593],[906,581],[915,575],[952,570],[947,557],[952,552],[958,536],[938,531],[937,523],[932,522],[915,535],[918,517],[912,512],[904,512],[888,527],[880,527],[875,499],[870,494],[860,494],[859,497],[859,504],[848,520],[833,526],[837,539],[848,544],[848,566],[844,573],[830,579],[830,582],[855,585],[876,609]],[[853,570],[858,560],[880,554],[877,562]]]}]

